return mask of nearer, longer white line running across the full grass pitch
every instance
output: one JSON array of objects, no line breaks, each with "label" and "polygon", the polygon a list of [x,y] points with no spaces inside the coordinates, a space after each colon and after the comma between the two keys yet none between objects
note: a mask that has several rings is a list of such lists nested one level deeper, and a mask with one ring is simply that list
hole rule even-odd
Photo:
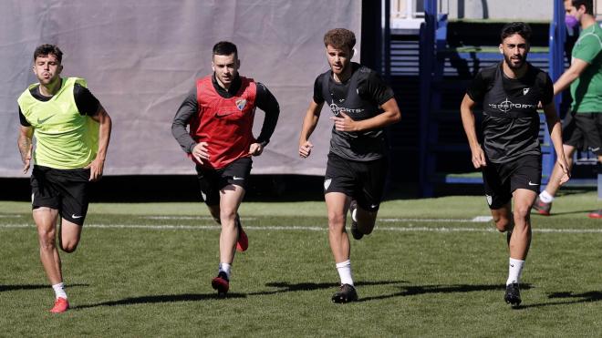
[{"label": "nearer, longer white line running across the full grass pitch", "polygon": [[[216,225],[150,225],[150,224],[87,224],[85,228],[97,229],[145,229],[145,230],[220,230]],[[0,228],[34,228],[32,224],[0,224]],[[302,230],[302,231],[326,231],[327,227],[306,226],[245,226],[245,230]],[[493,227],[486,228],[449,228],[449,227],[376,227],[379,231],[400,232],[496,232]],[[545,233],[602,233],[602,229],[534,229],[534,232]]]}]

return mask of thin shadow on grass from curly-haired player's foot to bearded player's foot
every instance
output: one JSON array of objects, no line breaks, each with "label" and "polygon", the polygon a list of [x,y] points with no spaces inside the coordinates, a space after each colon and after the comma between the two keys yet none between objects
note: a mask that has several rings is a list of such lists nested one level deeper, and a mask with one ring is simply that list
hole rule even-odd
[{"label": "thin shadow on grass from curly-haired player's foot to bearded player's foot", "polygon": [[[529,290],[530,284],[521,284],[521,290]],[[407,297],[415,296],[420,294],[428,293],[465,293],[465,292],[482,292],[482,291],[493,291],[493,290],[505,290],[504,285],[470,285],[470,284],[458,284],[458,285],[415,285],[415,286],[402,286],[400,292],[383,294],[380,296],[364,297],[360,298],[358,302],[370,302],[379,301],[382,299],[392,297]]]}]

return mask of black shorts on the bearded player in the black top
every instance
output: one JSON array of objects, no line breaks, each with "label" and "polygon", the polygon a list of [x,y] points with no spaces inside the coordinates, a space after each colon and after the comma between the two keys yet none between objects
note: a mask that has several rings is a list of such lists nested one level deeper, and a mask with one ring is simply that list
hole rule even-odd
[{"label": "black shorts on the bearded player in the black top", "polygon": [[542,182],[542,158],[525,155],[506,163],[487,161],[483,169],[483,183],[489,209],[500,209],[512,199],[515,189],[529,189],[539,193]]}]

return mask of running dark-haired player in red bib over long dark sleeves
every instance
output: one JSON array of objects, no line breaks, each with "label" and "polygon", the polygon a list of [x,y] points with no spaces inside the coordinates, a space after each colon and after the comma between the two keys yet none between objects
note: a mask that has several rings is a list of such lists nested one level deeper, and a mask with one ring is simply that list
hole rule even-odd
[{"label": "running dark-haired player in red bib over long dark sleeves", "polygon": [[[202,199],[213,219],[222,225],[220,265],[213,289],[230,288],[234,249],[246,251],[248,239],[238,216],[253,160],[269,142],[280,108],[263,84],[240,77],[236,46],[227,41],[213,46],[213,75],[196,80],[182,102],[171,133],[196,163]],[[255,108],[265,111],[258,138],[253,136]],[[187,130],[186,127],[189,126]]]}]

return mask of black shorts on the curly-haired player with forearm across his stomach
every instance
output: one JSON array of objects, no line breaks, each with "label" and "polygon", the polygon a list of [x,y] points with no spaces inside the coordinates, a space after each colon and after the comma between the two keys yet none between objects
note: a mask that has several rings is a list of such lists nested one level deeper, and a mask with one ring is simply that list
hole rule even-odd
[{"label": "black shorts on the curly-haired player with forearm across his stomach", "polygon": [[379,210],[387,177],[388,159],[361,162],[328,154],[324,193],[342,192],[369,211]]}]

